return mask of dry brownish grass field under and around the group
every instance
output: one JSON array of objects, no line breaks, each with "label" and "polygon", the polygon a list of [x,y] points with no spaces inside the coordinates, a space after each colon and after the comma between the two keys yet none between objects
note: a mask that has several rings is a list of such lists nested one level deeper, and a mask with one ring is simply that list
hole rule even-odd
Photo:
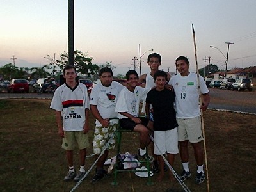
[{"label": "dry brownish grass field under and around the group", "polygon": [[[57,134],[51,100],[0,100],[0,191],[70,191],[76,183],[63,182],[68,166],[61,138]],[[256,116],[220,111],[204,113],[205,141],[211,191],[256,191]],[[94,118],[90,115],[90,143],[93,141]],[[123,137],[122,152],[136,153],[138,135]],[[92,153],[92,147],[87,154]],[[115,150],[109,157],[115,155]],[[207,191],[207,182],[194,184],[196,165],[190,147],[192,176],[185,184],[191,191]],[[175,157],[174,169],[180,173],[180,157]],[[95,161],[86,159],[86,169]],[[79,167],[75,150],[74,162]],[[108,168],[106,166],[106,168]],[[94,169],[93,169],[94,170]],[[147,179],[134,173],[119,173],[118,186],[112,186],[113,176],[90,184],[89,173],[76,191],[181,191],[178,182],[170,183],[167,173],[163,182],[147,186]]]}]

